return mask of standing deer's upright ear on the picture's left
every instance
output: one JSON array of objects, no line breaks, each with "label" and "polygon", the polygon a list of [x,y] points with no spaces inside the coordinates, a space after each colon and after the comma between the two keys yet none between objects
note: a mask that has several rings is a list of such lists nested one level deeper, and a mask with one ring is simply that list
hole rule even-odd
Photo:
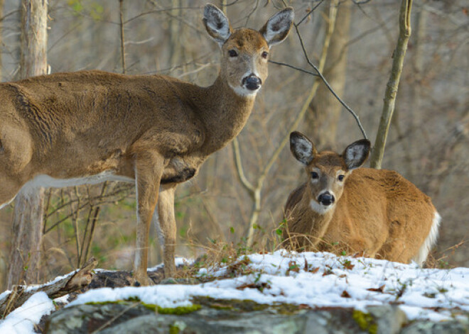
[{"label": "standing deer's upright ear on the picture's left", "polygon": [[232,28],[225,14],[212,4],[206,4],[203,11],[203,24],[215,42],[222,45],[230,38]]}]

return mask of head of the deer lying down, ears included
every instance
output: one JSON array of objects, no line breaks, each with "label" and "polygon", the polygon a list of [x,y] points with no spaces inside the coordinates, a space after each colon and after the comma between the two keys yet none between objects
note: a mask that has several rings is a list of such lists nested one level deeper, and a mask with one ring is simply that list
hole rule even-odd
[{"label": "head of the deer lying down, ears included", "polygon": [[305,135],[293,132],[290,134],[290,150],[293,157],[305,166],[310,207],[316,213],[324,214],[340,200],[345,181],[352,170],[367,160],[370,141],[357,140],[348,145],[342,155],[338,155],[330,151],[318,152]]}]

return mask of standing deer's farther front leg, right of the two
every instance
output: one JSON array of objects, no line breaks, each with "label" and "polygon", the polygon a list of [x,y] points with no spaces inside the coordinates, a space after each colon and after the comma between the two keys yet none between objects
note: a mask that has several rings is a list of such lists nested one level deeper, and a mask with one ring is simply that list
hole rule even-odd
[{"label": "standing deer's farther front leg, right of the two", "polygon": [[153,221],[158,232],[163,263],[164,277],[174,277],[176,265],[174,264],[174,253],[176,251],[176,218],[174,216],[174,192],[176,185],[161,187],[158,198],[158,210],[153,215]]}]

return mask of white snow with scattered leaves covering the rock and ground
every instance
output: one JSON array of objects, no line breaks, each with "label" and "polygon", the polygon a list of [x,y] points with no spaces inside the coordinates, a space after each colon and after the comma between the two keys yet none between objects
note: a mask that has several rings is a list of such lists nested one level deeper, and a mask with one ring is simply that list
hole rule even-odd
[{"label": "white snow with scattered leaves covering the rock and ground", "polygon": [[[188,306],[194,296],[210,296],[250,299],[259,304],[305,304],[312,308],[348,307],[363,311],[366,306],[398,304],[409,320],[445,321],[458,316],[460,311],[469,311],[469,268],[421,269],[415,263],[404,265],[365,257],[338,257],[327,252],[291,253],[284,250],[247,255],[247,258],[244,274],[238,277],[223,278],[226,267],[203,268],[198,272],[199,276],[218,279],[196,285],[94,289],[81,294],[67,307],[138,297],[146,304],[168,308]],[[178,260],[184,261],[187,263],[187,260]],[[12,319],[16,319],[16,326],[31,325],[31,321],[38,321],[41,314],[50,312],[47,307],[33,311],[31,306],[51,304],[36,298],[38,301],[28,300],[30,306],[25,304],[22,311],[18,309],[20,311],[14,311],[0,322],[0,333],[3,333],[2,326],[11,328]],[[23,316],[17,311],[23,312]]]}]

